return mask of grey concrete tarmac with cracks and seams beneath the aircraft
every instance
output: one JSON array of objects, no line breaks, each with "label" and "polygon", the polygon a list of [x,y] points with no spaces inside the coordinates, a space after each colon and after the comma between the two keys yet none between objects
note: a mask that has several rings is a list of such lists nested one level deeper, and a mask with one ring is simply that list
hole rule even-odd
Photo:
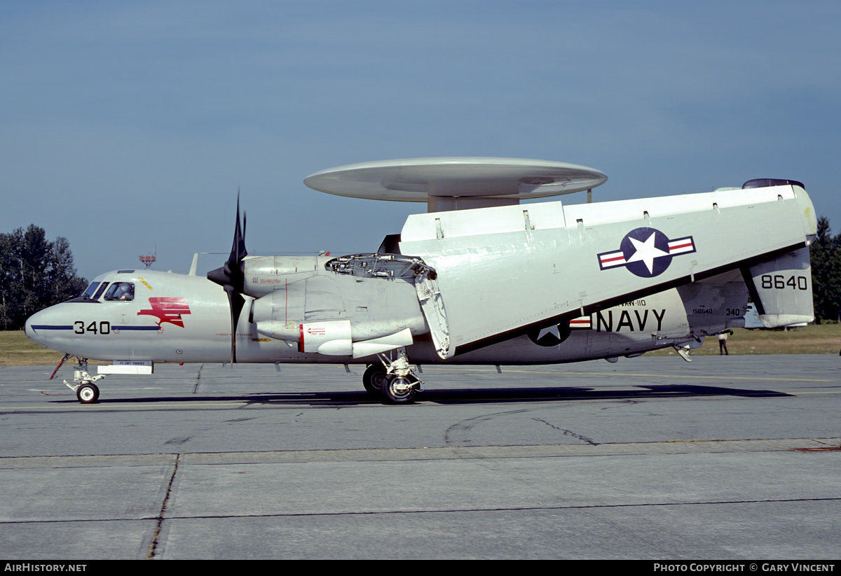
[{"label": "grey concrete tarmac with cracks and seams beneath the aircraft", "polygon": [[837,559],[839,360],[0,368],[0,558]]}]

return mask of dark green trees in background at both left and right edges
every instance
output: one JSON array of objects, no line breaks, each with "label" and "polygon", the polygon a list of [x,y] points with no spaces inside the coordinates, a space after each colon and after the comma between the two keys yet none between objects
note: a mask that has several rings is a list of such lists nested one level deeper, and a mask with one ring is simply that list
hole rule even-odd
[{"label": "dark green trees in background at both left and right edges", "polygon": [[[815,322],[841,322],[841,233],[833,236],[829,219],[817,219],[809,246]],[[82,294],[87,280],[76,275],[66,238],[46,239],[44,228],[0,233],[0,326],[17,330],[35,312]]]}]

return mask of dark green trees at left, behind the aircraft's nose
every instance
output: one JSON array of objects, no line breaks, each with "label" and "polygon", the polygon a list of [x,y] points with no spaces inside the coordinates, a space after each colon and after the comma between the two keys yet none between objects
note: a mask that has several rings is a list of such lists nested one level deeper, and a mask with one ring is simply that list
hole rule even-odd
[{"label": "dark green trees at left, behind the aircraft's nose", "polygon": [[87,280],[76,275],[66,238],[46,239],[29,224],[0,233],[0,326],[17,330],[35,312],[82,294]]}]

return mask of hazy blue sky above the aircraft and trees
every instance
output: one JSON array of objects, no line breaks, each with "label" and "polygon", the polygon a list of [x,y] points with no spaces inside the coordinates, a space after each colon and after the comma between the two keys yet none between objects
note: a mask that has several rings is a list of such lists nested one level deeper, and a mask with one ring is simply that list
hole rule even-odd
[{"label": "hazy blue sky above the aircraft and trees", "polygon": [[89,279],[186,272],[240,188],[252,254],[375,250],[425,206],[304,177],[441,155],[591,166],[596,200],[790,178],[838,232],[839,28],[837,2],[7,0],[0,232],[66,237]]}]

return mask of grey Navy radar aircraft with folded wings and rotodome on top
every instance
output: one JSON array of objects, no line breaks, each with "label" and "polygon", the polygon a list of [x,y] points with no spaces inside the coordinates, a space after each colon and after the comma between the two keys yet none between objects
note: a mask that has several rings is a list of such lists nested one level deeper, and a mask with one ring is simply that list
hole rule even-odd
[{"label": "grey Navy radar aircraft with folded wings and rotodome on top", "polygon": [[[808,243],[817,222],[797,181],[563,206],[598,170],[542,160],[433,158],[340,166],[317,190],[426,202],[376,252],[249,256],[237,202],[225,265],[196,275],[116,270],[34,314],[26,333],[77,356],[97,401],[105,374],[154,363],[364,364],[393,403],[423,389],[422,364],[616,361],[743,326],[812,321]],[[87,359],[114,361],[87,372]],[[55,374],[55,373],[54,373]]]}]

